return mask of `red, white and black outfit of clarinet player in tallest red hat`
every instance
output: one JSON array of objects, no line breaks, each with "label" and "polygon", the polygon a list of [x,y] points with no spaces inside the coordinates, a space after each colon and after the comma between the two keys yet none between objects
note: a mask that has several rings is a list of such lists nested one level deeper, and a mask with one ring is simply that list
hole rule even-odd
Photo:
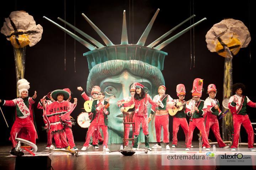
[{"label": "red, white and black outfit of clarinet player in tallest red hat", "polygon": [[[188,138],[187,138],[186,147],[191,148],[192,139],[193,139],[193,131],[194,131],[194,128],[197,127],[201,131],[202,141],[204,143],[204,146],[206,148],[210,148],[208,137],[207,137],[207,134],[206,134],[206,129],[205,129],[205,126],[204,126],[204,118],[203,118],[203,115],[204,115],[204,111],[203,111],[204,101],[203,100],[198,101],[195,104],[195,106],[198,108],[199,112],[194,111],[193,119],[192,119],[192,121],[190,121],[189,128],[188,128]],[[192,113],[190,113],[191,107],[192,107],[192,101],[190,101],[186,106],[186,113],[189,117],[191,117],[191,115],[192,115]]]}]

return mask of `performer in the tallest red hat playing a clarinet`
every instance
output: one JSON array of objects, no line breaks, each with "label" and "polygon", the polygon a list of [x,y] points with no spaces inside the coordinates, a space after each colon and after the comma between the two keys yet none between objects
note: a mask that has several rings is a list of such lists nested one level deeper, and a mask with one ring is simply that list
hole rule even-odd
[{"label": "performer in the tallest red hat playing a clarinet", "polygon": [[192,89],[192,96],[193,100],[191,100],[186,106],[186,113],[188,117],[190,117],[190,123],[188,128],[188,138],[186,144],[186,151],[190,151],[192,138],[193,138],[193,131],[194,128],[198,128],[202,133],[202,139],[204,146],[206,147],[206,151],[210,151],[210,145],[208,141],[208,137],[206,134],[206,129],[204,126],[204,101],[200,100],[202,96],[203,89],[203,80],[196,78],[193,82],[193,89]]}]

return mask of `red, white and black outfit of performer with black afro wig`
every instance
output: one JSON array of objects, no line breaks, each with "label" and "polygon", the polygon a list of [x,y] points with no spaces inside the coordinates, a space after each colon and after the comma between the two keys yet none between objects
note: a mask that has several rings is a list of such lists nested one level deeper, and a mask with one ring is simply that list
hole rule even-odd
[{"label": "red, white and black outfit of performer with black afro wig", "polygon": [[[236,98],[236,103],[233,102],[234,98]],[[233,115],[234,125],[234,137],[231,148],[238,147],[241,125],[244,126],[248,135],[248,148],[254,147],[254,130],[246,113],[246,105],[256,107],[256,103],[252,102],[247,96],[234,95],[229,99],[228,106]]]}]

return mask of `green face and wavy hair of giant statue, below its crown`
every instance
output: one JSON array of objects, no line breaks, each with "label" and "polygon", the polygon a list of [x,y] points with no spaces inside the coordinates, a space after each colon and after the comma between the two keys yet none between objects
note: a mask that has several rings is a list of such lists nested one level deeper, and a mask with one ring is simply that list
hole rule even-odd
[{"label": "green face and wavy hair of giant statue, below its crown", "polygon": [[[145,86],[144,90],[151,97],[158,94],[158,87],[164,84],[164,78],[159,68],[138,60],[111,60],[99,63],[92,67],[88,80],[87,92],[92,86],[100,85],[106,97],[115,95],[110,100],[110,115],[108,116],[109,143],[122,143],[123,139],[123,114],[117,106],[117,101],[130,96],[130,86],[139,82]],[[150,112],[150,104],[148,107]],[[154,128],[153,128],[154,130]],[[130,131],[131,132],[131,131]],[[153,131],[149,126],[150,141],[154,141]],[[141,131],[142,133],[142,131]],[[144,142],[144,135],[140,135]]]}]

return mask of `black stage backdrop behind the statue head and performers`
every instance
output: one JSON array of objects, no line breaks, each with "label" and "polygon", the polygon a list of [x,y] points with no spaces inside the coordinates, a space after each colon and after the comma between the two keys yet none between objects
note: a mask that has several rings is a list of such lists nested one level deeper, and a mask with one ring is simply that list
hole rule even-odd
[{"label": "black stage backdrop behind the statue head and performers", "polygon": [[[138,0],[133,1],[132,4],[132,0],[76,0],[75,2],[66,0],[66,5],[64,5],[64,0],[1,2],[0,26],[4,23],[4,18],[8,17],[10,12],[15,10],[28,12],[34,17],[37,24],[41,24],[43,27],[41,41],[33,47],[28,47],[26,51],[25,78],[31,85],[29,90],[30,96],[33,96],[33,92],[36,90],[38,95],[36,102],[38,102],[39,98],[46,95],[47,92],[68,87],[73,92],[72,96],[77,97],[79,100],[78,107],[72,114],[76,119],[84,103],[76,87],[82,86],[86,89],[86,81],[89,74],[86,57],[83,57],[82,54],[89,50],[79,42],[76,42],[76,45],[74,45],[74,39],[69,35],[66,35],[66,43],[64,43],[64,32],[49,23],[46,19],[43,19],[43,16],[47,16],[64,26],[64,24],[58,21],[57,17],[64,19],[66,13],[66,21],[73,25],[75,24],[76,27],[103,44],[101,38],[81,16],[81,13],[85,13],[114,44],[120,44],[123,10],[126,10],[129,43],[136,44],[155,11],[157,8],[160,8],[159,15],[155,20],[145,45],[150,44],[193,13],[196,15],[194,22],[207,17],[206,21],[203,21],[192,30],[192,33],[194,32],[195,67],[190,69],[191,33],[187,32],[162,49],[162,51],[168,53],[165,57],[162,73],[167,87],[166,92],[173,98],[176,98],[176,85],[183,83],[187,90],[186,99],[189,99],[191,96],[189,91],[192,89],[194,78],[202,78],[204,79],[204,89],[206,89],[203,92],[202,99],[204,100],[208,97],[206,94],[208,84],[214,83],[218,89],[217,98],[220,102],[222,101],[223,90],[224,57],[217,55],[217,53],[212,53],[207,49],[205,35],[213,24],[220,22],[224,18],[238,19],[248,27],[252,40],[250,45],[241,49],[233,59],[233,82],[244,83],[247,87],[246,94],[252,101],[256,101],[256,88],[253,83],[256,66],[255,10],[252,8],[252,2],[248,0],[240,1],[239,3],[225,1],[222,4],[217,4],[217,2],[211,2],[209,4],[209,2],[195,1],[193,3],[193,1],[167,2],[165,0]],[[190,26],[190,22],[181,26],[171,36],[188,26]],[[0,35],[0,42],[0,98],[12,100],[16,97],[14,53],[11,43],[6,40],[3,34]],[[66,69],[64,69],[65,50]],[[75,63],[74,53],[76,54]],[[40,137],[38,141],[46,141],[46,133],[41,128],[43,125],[41,118],[42,110],[36,109],[36,104],[34,108]],[[2,110],[11,127],[15,108],[3,107]],[[256,122],[255,112],[256,109],[248,108],[252,122]],[[172,118],[170,119],[170,134],[172,133],[171,125]],[[10,128],[6,127],[2,115],[0,116],[0,128],[2,132],[0,143],[2,145],[10,144],[10,141],[8,141]],[[73,127],[75,141],[84,141],[86,131],[86,129],[75,125]],[[247,141],[247,135],[243,128],[241,130],[241,137],[242,141]],[[215,141],[212,132],[210,132],[209,138]],[[197,135],[194,135],[194,140],[197,139]],[[178,133],[178,140],[185,140],[182,130]]]}]

